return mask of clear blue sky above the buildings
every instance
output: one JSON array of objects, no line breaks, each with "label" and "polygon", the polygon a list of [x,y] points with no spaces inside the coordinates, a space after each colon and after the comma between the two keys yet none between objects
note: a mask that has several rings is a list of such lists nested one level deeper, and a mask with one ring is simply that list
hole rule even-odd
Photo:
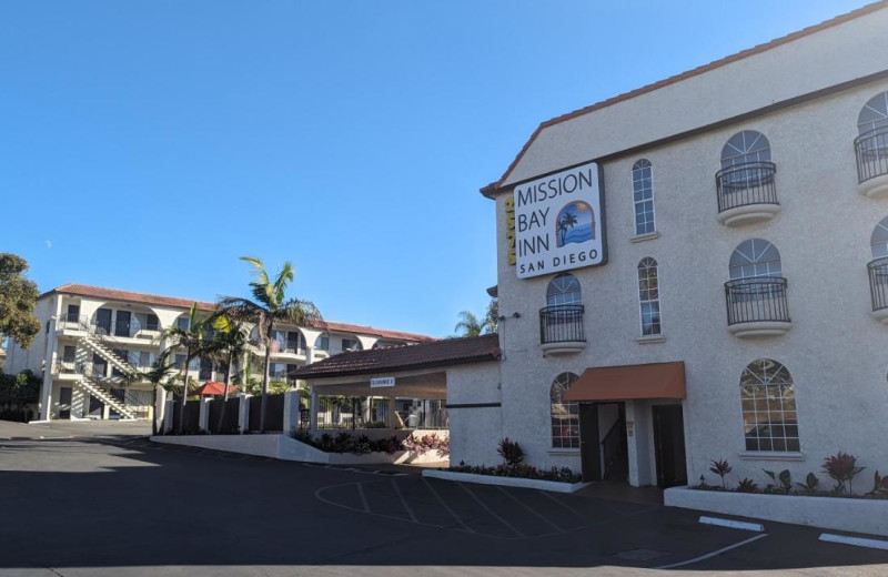
[{"label": "clear blue sky above the buildings", "polygon": [[329,320],[445,336],[541,121],[859,6],[6,0],[0,251],[202,300],[289,260]]}]

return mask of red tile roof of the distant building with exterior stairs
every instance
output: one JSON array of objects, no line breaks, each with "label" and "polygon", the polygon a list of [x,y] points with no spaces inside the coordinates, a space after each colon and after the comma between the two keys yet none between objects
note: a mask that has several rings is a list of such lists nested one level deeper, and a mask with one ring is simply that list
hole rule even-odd
[{"label": "red tile roof of the distant building with exterior stairs", "polygon": [[[121,291],[119,288],[104,288],[101,286],[90,286],[87,284],[63,284],[57,288],[48,291],[40,295],[40,298],[52,294],[73,294],[78,296],[91,296],[94,298],[103,298],[108,301],[121,301],[124,303],[139,303],[139,304],[153,304],[158,306],[170,306],[173,308],[191,308],[192,303],[198,303],[198,308],[201,311],[215,310],[215,303],[205,301],[192,301],[189,298],[179,298],[176,296],[161,296],[157,294],[135,293],[132,291]],[[327,321],[324,323],[327,331],[342,331],[345,333],[359,333],[363,335],[379,336],[381,338],[394,338],[401,341],[417,341],[421,343],[435,341],[434,337],[421,335],[416,333],[405,333],[403,331],[387,331],[385,328],[375,328],[366,325],[355,325],[349,323],[336,323]],[[322,328],[322,327],[319,327]]]}]

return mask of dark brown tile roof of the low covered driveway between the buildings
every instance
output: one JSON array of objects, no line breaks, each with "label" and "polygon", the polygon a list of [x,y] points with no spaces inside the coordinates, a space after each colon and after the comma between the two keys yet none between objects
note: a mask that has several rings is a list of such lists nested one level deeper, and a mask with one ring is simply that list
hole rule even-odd
[{"label": "dark brown tile roof of the low covered driveway between the buildings", "polygon": [[500,358],[500,337],[496,334],[466,338],[445,338],[434,343],[401,345],[369,351],[353,351],[324,358],[290,373],[294,378],[329,378],[337,376],[395,373]]}]

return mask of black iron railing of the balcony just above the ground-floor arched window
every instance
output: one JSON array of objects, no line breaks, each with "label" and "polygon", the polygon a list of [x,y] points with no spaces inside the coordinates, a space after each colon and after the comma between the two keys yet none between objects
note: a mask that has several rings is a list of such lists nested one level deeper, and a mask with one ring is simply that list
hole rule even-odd
[{"label": "black iron railing of the balcony just above the ground-floor arched window", "polygon": [[725,283],[728,326],[739,323],[789,322],[786,279],[758,276]]}]

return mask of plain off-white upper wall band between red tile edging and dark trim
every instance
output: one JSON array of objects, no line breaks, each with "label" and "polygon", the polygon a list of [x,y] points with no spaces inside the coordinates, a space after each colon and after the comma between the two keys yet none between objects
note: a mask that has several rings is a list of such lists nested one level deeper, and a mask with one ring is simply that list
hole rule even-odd
[{"label": "plain off-white upper wall band between red tile edging and dark trim", "polygon": [[[544,129],[506,184],[888,70],[888,10]],[[856,119],[855,114],[855,119]]]}]

